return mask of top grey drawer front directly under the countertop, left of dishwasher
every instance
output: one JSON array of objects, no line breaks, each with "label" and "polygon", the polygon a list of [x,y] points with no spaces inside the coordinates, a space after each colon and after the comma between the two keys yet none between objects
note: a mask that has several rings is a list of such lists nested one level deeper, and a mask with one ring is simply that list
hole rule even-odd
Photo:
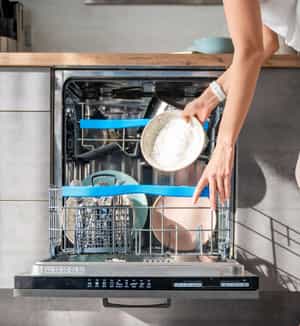
[{"label": "top grey drawer front directly under the countertop, left of dishwasher", "polygon": [[0,69],[0,111],[49,111],[49,69]]}]

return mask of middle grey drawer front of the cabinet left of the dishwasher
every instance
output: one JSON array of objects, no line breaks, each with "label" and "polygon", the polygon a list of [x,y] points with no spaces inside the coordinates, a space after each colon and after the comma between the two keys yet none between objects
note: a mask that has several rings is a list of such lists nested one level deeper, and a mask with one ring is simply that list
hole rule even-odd
[{"label": "middle grey drawer front of the cabinet left of the dishwasher", "polygon": [[0,111],[0,200],[47,200],[50,113]]}]

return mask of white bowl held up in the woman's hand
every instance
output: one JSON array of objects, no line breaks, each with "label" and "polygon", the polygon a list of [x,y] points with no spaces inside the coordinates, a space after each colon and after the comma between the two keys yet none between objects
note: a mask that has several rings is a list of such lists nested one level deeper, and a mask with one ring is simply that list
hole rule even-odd
[{"label": "white bowl held up in the woman's hand", "polygon": [[181,110],[164,112],[144,128],[141,150],[152,167],[173,172],[192,164],[207,145],[201,123],[192,118],[186,122]]}]

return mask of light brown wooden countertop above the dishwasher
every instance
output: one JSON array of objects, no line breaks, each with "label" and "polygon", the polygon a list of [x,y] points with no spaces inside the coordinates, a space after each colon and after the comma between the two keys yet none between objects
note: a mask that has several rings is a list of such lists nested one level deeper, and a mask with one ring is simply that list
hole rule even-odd
[{"label": "light brown wooden countertop above the dishwasher", "polygon": [[[0,53],[1,67],[188,66],[227,67],[230,54],[173,53]],[[300,56],[275,55],[265,65],[300,68]]]}]

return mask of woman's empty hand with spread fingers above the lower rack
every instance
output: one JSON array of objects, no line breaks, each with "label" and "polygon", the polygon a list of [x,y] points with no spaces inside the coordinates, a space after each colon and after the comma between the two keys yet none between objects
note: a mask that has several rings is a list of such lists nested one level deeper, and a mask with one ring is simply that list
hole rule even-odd
[{"label": "woman's empty hand with spread fingers above the lower rack", "polygon": [[193,195],[194,204],[206,185],[209,185],[210,205],[213,210],[216,210],[217,195],[222,204],[229,199],[233,161],[234,146],[218,143],[196,186]]}]

